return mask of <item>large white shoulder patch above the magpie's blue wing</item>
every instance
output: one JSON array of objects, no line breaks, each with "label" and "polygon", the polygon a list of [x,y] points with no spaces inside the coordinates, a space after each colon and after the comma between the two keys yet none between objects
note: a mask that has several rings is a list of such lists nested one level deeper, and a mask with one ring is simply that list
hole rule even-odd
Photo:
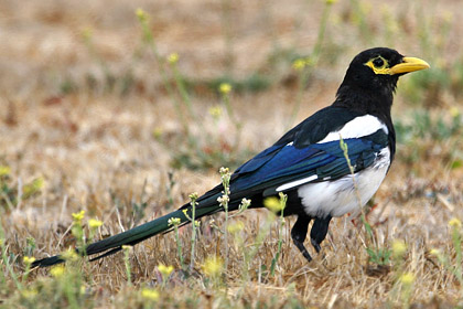
[{"label": "large white shoulder patch above the magpie's blue wing", "polygon": [[363,136],[372,135],[379,129],[383,129],[385,134],[389,132],[386,125],[383,124],[377,117],[372,115],[359,116],[345,124],[341,130],[329,134],[317,143],[340,140],[340,135],[343,137],[343,139],[359,138]]}]

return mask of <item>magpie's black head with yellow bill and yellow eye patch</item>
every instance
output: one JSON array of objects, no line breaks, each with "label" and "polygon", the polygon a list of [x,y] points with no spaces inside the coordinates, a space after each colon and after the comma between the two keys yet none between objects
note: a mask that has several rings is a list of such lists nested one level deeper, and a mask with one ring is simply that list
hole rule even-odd
[{"label": "magpie's black head with yellow bill and yellow eye patch", "polygon": [[334,104],[389,115],[399,76],[428,67],[424,61],[405,57],[391,49],[366,50],[352,61]]}]

